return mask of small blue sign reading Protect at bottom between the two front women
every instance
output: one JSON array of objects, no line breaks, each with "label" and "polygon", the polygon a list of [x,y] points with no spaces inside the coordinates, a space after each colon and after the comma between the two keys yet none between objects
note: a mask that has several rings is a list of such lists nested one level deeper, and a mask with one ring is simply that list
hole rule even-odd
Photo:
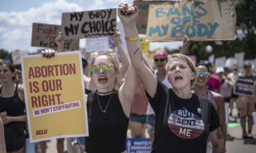
[{"label": "small blue sign reading Protect at bottom between the two front women", "polygon": [[126,140],[126,150],[127,153],[150,153],[152,151],[151,141],[149,138],[129,138]]}]

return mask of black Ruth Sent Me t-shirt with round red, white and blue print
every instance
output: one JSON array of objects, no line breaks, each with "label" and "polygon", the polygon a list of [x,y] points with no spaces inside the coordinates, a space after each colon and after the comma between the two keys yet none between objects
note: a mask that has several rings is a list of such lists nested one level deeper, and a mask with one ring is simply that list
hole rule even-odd
[{"label": "black Ruth Sent Me t-shirt with round red, white and blue print", "polygon": [[193,94],[181,99],[158,82],[153,98],[147,94],[156,114],[152,153],[205,153],[208,135],[220,126],[214,106]]}]

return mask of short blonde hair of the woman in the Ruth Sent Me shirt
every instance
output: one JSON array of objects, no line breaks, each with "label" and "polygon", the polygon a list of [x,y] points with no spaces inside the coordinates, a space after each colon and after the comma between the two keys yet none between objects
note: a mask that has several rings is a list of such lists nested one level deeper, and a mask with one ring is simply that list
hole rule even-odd
[{"label": "short blonde hair of the woman in the Ruth Sent Me shirt", "polygon": [[[173,54],[173,55],[171,55],[171,57],[169,58],[169,61],[167,63],[167,71],[169,70],[169,66],[171,64],[171,58],[175,58],[175,57],[182,58],[182,60],[185,61],[188,64],[191,71],[193,73],[196,73],[197,69],[195,67],[195,64],[193,63],[193,61],[188,56],[186,56],[184,54]],[[190,80],[190,86],[192,86],[195,83],[195,80],[196,80],[196,77],[193,78],[193,80]]]}]

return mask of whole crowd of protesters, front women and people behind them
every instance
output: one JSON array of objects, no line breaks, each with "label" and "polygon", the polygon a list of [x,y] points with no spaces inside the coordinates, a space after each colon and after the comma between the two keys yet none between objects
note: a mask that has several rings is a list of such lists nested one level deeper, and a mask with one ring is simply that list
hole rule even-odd
[{"label": "whole crowd of protesters, front women and people behind them", "polygon": [[[227,124],[229,117],[234,117],[234,104],[242,138],[253,139],[256,94],[246,97],[233,92],[238,78],[256,81],[252,63],[216,69],[209,63],[196,66],[184,55],[190,45],[186,39],[180,54],[157,50],[151,67],[141,54],[134,22],[138,14],[137,7],[127,3],[118,7],[130,61],[118,29],[113,39],[119,58],[114,50],[106,50],[92,53],[89,63],[82,60],[89,137],[67,138],[68,152],[126,152],[128,126],[131,137],[143,138],[148,133],[152,152],[226,152],[225,142],[231,137]],[[63,52],[61,33],[55,41],[57,51]],[[55,51],[44,50],[41,54],[51,58]],[[29,133],[21,74],[12,63],[0,62],[0,152],[45,153],[47,141],[37,145],[26,141]],[[254,88],[256,92],[256,84]],[[183,121],[188,122],[188,118],[195,124],[185,126]],[[178,120],[182,122],[177,125]],[[182,128],[187,135],[179,133]],[[190,134],[186,129],[195,130]],[[64,139],[57,139],[58,153],[64,152]],[[76,143],[79,148],[75,148]]]}]

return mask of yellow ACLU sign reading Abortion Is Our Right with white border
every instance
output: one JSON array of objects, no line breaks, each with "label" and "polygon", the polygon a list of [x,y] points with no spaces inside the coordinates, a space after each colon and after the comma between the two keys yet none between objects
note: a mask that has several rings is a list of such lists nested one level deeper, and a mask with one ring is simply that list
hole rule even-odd
[{"label": "yellow ACLU sign reading Abortion Is Our Right with white border", "polygon": [[81,52],[21,60],[30,141],[88,136]]}]

